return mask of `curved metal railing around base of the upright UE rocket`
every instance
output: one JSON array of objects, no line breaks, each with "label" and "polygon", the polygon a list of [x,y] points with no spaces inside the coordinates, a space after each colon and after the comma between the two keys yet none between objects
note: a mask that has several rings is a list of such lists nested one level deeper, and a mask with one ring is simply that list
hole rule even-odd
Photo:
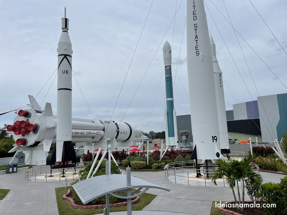
[{"label": "curved metal railing around base of the upright UE rocket", "polygon": [[25,170],[25,180],[31,181],[31,178],[33,178],[36,181],[37,176],[45,176],[46,181],[47,177],[59,177],[59,181],[61,181],[61,177],[63,178],[65,175],[73,175],[74,179],[74,175],[77,175],[80,170],[85,168],[85,165],[82,163],[77,163],[77,165],[76,167],[64,169],[50,169],[48,165],[31,165]]}]

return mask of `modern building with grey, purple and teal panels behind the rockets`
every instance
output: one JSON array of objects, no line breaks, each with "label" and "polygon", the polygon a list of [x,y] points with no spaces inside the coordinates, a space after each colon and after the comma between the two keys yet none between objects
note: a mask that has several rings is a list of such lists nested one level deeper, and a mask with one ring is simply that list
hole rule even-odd
[{"label": "modern building with grey, purple and teal panels behind the rockets", "polygon": [[[287,131],[287,93],[257,97],[233,105],[226,111],[228,135],[233,139],[272,143],[281,140]],[[190,115],[177,116],[177,131],[191,132],[189,141],[193,142]],[[181,136],[179,136],[181,141]]]}]

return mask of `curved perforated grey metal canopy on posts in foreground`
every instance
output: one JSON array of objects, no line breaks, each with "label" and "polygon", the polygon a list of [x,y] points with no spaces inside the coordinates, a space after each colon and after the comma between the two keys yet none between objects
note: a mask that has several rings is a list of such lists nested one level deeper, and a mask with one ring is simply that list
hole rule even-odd
[{"label": "curved perforated grey metal canopy on posts in foreground", "polygon": [[[97,177],[88,178],[86,180],[80,181],[72,185],[75,189],[75,192],[79,196],[83,204],[104,196],[106,194],[113,195],[113,192],[122,191],[131,188],[146,188],[145,191],[149,188],[162,189],[165,191],[170,191],[164,187],[160,187],[156,184],[144,181],[142,179],[131,177],[131,186],[127,186],[126,175],[112,174],[112,175],[99,175]],[[132,192],[135,193],[139,191]],[[117,194],[117,193],[116,193]],[[133,197],[139,196],[141,193],[134,195]],[[117,194],[119,195],[119,194]],[[122,196],[121,198],[128,198],[127,196]]]}]

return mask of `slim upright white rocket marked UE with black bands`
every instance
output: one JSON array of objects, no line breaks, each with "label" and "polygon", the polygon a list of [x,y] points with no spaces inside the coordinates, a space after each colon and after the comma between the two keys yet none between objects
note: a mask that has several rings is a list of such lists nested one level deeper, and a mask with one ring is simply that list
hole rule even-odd
[{"label": "slim upright white rocket marked UE with black bands", "polygon": [[[58,42],[58,87],[57,87],[57,135],[56,162],[63,162],[67,157],[65,144],[72,140],[72,43],[68,33],[69,19],[62,18],[62,33]],[[67,142],[69,141],[69,142]],[[65,143],[64,143],[65,142]],[[68,156],[69,157],[69,156]]]}]

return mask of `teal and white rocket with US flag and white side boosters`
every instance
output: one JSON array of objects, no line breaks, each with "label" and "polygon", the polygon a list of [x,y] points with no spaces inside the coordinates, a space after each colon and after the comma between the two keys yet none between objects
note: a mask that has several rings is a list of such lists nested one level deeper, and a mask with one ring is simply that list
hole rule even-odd
[{"label": "teal and white rocket with US flag and white side boosters", "polygon": [[172,74],[171,74],[171,47],[166,41],[163,46],[165,90],[166,90],[166,110],[165,129],[166,146],[178,146],[177,143],[177,118],[173,104]]}]

